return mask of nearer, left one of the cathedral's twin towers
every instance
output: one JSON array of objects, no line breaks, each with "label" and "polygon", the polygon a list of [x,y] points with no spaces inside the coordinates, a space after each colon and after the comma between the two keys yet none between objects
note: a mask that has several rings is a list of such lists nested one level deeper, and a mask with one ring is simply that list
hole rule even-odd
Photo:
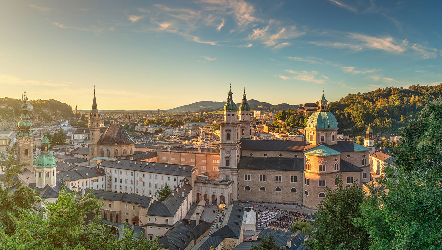
[{"label": "nearer, left one of the cathedral's twin towers", "polygon": [[224,121],[221,122],[220,143],[220,179],[233,180],[233,188],[228,199],[238,200],[237,174],[238,162],[240,161],[240,123],[236,118],[236,104],[233,102],[232,90],[229,90],[227,102],[224,105]]}]

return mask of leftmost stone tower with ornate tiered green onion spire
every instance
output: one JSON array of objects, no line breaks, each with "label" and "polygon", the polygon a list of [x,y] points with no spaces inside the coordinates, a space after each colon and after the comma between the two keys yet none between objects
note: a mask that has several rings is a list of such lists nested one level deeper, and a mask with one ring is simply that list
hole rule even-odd
[{"label": "leftmost stone tower with ornate tiered green onion spire", "polygon": [[[32,135],[32,122],[29,120],[28,108],[27,108],[27,96],[24,94],[22,104],[22,115],[20,121],[17,124],[19,127],[19,133],[17,134],[17,163],[27,164],[26,168],[30,171],[33,169],[32,152],[34,149],[34,136]],[[22,167],[22,169],[24,169]]]}]

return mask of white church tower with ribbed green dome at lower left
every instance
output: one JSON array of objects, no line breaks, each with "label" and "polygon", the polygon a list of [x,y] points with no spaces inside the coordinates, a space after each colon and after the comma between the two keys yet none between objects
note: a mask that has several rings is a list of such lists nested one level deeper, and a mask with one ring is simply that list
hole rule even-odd
[{"label": "white church tower with ribbed green dome at lower left", "polygon": [[35,157],[34,180],[37,188],[44,188],[46,185],[54,187],[56,184],[57,161],[49,153],[50,141],[47,133],[42,138],[42,152]]}]

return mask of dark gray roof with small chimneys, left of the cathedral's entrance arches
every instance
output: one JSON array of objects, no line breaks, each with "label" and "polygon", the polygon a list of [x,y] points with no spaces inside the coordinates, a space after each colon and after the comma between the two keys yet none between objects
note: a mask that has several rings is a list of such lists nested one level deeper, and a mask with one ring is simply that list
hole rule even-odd
[{"label": "dark gray roof with small chimneys, left of the cathedral's entrance arches", "polygon": [[[147,212],[147,215],[152,216],[168,216],[171,217],[175,215],[175,213],[178,211],[178,208],[183,203],[184,199],[189,195],[189,193],[192,190],[192,186],[189,184],[186,184],[184,179],[181,182],[181,187],[178,188],[178,191],[176,189],[173,190],[173,192],[166,198],[164,201],[154,201],[149,207],[149,211]],[[184,197],[183,192],[184,191]]]}]

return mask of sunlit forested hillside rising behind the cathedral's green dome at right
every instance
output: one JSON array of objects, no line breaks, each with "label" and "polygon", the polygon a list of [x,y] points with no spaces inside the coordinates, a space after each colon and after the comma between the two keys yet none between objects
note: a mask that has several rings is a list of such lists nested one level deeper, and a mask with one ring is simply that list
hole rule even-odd
[{"label": "sunlit forested hillside rising behind the cathedral's green dome at right", "polygon": [[362,135],[366,125],[373,123],[373,131],[389,135],[413,118],[430,101],[442,97],[442,84],[437,86],[412,85],[409,88],[379,88],[374,91],[348,94],[329,104],[336,116],[339,131]]}]

